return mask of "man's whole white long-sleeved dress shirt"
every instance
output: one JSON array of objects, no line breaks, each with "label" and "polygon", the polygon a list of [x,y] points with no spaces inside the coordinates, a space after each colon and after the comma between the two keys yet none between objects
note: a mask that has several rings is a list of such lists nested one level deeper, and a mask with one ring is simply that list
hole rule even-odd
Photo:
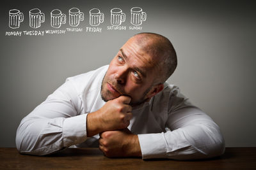
[{"label": "man's whole white long-sleeved dress shirt", "polygon": [[[16,145],[20,153],[45,155],[68,147],[98,147],[99,134],[86,135],[86,117],[105,102],[100,87],[108,66],[67,78],[65,83],[22,119]],[[128,129],[138,134],[143,159],[202,159],[221,155],[218,125],[189,103],[178,87],[164,89],[132,108]]]}]

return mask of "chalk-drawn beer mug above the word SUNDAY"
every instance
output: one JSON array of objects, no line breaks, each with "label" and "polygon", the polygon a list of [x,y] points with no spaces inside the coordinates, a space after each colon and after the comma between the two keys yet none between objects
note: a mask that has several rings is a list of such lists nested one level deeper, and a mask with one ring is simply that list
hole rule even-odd
[{"label": "chalk-drawn beer mug above the word SUNDAY", "polygon": [[131,8],[131,24],[141,25],[147,18],[147,13],[143,12],[140,7]]}]

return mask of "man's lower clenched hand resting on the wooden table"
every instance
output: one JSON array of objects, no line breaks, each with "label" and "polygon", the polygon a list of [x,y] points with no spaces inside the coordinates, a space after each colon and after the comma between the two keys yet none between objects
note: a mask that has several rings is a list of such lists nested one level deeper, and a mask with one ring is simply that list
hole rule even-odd
[{"label": "man's lower clenched hand resting on the wooden table", "polygon": [[106,157],[141,157],[138,135],[127,128],[100,133],[99,149]]}]

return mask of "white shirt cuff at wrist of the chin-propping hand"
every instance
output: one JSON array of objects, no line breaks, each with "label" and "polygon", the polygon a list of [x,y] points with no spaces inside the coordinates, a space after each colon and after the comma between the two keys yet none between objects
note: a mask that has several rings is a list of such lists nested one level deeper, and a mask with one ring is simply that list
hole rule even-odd
[{"label": "white shirt cuff at wrist of the chin-propping hand", "polygon": [[65,118],[63,123],[63,143],[65,147],[77,145],[86,140],[87,114]]}]

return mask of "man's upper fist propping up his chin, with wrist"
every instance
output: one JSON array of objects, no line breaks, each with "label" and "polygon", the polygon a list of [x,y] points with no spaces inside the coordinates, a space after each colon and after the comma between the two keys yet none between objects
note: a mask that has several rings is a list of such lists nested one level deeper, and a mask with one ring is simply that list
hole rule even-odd
[{"label": "man's upper fist propping up his chin, with wrist", "polygon": [[128,127],[132,118],[130,101],[131,97],[120,96],[108,101],[99,110],[88,114],[87,136]]}]

